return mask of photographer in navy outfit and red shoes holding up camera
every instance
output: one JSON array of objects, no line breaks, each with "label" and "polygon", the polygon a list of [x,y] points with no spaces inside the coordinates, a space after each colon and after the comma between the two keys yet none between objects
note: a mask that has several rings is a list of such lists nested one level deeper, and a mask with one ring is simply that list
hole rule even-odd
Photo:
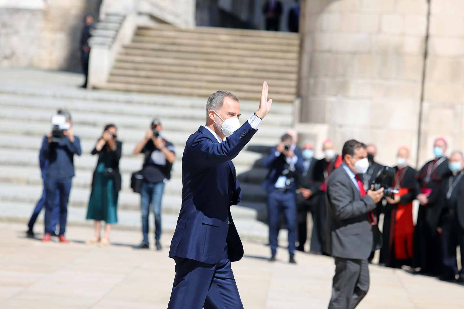
[{"label": "photographer in navy outfit and red shoes holding up camera", "polygon": [[[71,114],[58,110],[52,117],[52,132],[47,135],[48,147],[44,152],[48,166],[45,172],[45,234],[42,241],[50,241],[55,232],[52,216],[59,207],[59,241],[69,243],[64,237],[68,218],[68,200],[74,177],[74,155],[81,155],[81,142],[72,130]],[[59,196],[59,205],[55,203]]]}]

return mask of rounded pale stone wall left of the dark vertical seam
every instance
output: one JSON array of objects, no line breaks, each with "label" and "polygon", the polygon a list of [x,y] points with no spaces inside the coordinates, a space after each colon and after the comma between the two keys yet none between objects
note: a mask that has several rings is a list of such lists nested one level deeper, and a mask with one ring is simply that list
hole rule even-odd
[{"label": "rounded pale stone wall left of the dark vertical seam", "polygon": [[[325,137],[334,139],[339,150],[350,138],[375,143],[378,160],[386,164],[394,164],[398,147],[407,146],[412,150],[410,163],[415,166],[426,1],[306,0],[303,10],[300,121],[325,125]],[[431,45],[439,44],[434,41]],[[442,49],[446,50],[444,46]],[[429,88],[427,97],[433,95],[434,88]],[[457,87],[453,89],[456,93]],[[448,112],[453,108],[450,105]],[[438,131],[438,118],[437,123],[428,123],[427,118],[434,109],[436,105],[425,109],[424,117],[426,125],[435,126]],[[428,140],[431,134],[424,132],[423,136]],[[317,142],[320,145],[321,141]],[[420,163],[430,157],[429,146],[420,144],[421,154],[424,153]]]}]

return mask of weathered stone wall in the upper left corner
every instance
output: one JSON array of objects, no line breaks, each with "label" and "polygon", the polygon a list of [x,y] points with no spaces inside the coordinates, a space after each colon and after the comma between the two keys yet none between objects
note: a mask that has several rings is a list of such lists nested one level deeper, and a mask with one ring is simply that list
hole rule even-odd
[{"label": "weathered stone wall in the upper left corner", "polygon": [[98,16],[101,1],[39,1],[0,6],[0,65],[80,71],[84,15]]}]

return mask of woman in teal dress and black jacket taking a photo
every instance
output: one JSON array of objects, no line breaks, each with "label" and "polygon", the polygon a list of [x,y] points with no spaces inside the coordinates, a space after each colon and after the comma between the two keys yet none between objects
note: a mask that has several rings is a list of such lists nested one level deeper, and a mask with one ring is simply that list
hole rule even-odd
[{"label": "woman in teal dress and black jacket taking a photo", "polygon": [[[109,245],[111,225],[117,223],[117,200],[121,190],[119,160],[122,142],[116,138],[116,126],[108,124],[92,150],[92,155],[98,154],[98,161],[93,173],[87,219],[95,220],[95,236],[87,241],[88,244]],[[101,221],[106,223],[103,238],[100,237]]]}]

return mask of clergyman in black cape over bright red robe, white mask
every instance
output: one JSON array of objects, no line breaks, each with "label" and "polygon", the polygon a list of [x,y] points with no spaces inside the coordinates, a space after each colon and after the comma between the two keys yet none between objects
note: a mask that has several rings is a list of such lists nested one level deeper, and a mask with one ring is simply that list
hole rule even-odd
[{"label": "clergyman in black cape over bright red robe, white mask", "polygon": [[[393,167],[393,176],[388,177],[387,185],[397,189],[393,196],[387,196],[387,205],[383,207],[383,245],[380,249],[379,264],[399,268],[411,265],[412,236],[412,201],[417,195],[416,170],[407,163],[409,148],[400,147],[396,157],[397,165]],[[385,192],[385,191],[384,191]]]}]

